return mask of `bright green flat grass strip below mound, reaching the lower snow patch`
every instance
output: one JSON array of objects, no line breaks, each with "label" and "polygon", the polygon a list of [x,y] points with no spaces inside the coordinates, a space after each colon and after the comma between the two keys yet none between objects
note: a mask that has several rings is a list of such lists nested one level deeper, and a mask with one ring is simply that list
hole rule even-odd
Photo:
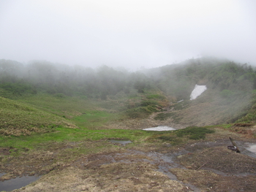
[{"label": "bright green flat grass strip below mound, reaching the lower snow patch", "polygon": [[71,129],[56,128],[55,132],[45,134],[33,134],[31,136],[4,137],[0,136],[0,147],[15,147],[34,149],[49,142],[79,142],[85,140],[101,139],[129,139],[131,141],[143,141],[151,135],[150,131],[140,130],[89,130],[89,129]]}]

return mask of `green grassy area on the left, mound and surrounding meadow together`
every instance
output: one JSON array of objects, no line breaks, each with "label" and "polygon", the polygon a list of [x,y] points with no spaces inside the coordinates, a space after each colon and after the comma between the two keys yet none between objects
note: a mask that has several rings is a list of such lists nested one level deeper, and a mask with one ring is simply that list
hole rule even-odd
[{"label": "green grassy area on the left, mound and surrounding meadow together", "polygon": [[[49,95],[20,97],[18,101],[1,98],[1,130],[5,132],[0,136],[0,147],[33,149],[41,145],[47,146],[50,142],[102,139],[130,139],[140,142],[151,134],[140,130],[104,129],[102,126],[120,116],[118,112],[109,112],[108,109],[99,107],[108,102],[111,100],[99,104],[99,101],[78,97],[56,98]],[[8,126],[4,127],[5,122],[8,122]],[[68,128],[70,126],[77,128]],[[37,133],[31,134],[32,132]],[[26,136],[29,134],[29,137]]]}]

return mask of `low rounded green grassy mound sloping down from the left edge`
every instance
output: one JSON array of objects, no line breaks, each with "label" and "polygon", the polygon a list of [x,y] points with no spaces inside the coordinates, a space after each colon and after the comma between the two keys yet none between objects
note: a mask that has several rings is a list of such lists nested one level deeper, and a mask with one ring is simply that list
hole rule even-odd
[{"label": "low rounded green grassy mound sloping down from the left edge", "polygon": [[59,126],[77,128],[69,120],[3,97],[0,97],[0,117],[0,134],[6,136],[51,132]]}]

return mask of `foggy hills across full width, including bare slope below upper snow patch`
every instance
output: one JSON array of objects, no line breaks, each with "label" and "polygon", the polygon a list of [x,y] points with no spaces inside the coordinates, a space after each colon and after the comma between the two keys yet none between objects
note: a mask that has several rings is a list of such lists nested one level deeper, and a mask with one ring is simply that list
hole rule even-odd
[{"label": "foggy hills across full width, including bare slope below upper snow patch", "polygon": [[[196,84],[206,85],[208,89],[195,101],[189,101]],[[192,58],[180,64],[138,72],[109,66],[91,69],[48,61],[31,61],[26,65],[17,61],[0,61],[2,97],[15,99],[46,93],[59,98],[79,96],[83,99],[109,101],[123,95],[128,99],[124,106],[127,106],[130,117],[145,118],[151,112],[159,111],[157,109],[160,105],[156,105],[154,99],[143,99],[143,94],[146,96],[154,92],[168,100],[160,108],[167,107],[167,111],[172,113],[173,122],[184,125],[203,126],[238,120],[254,104],[255,89],[254,67],[210,57]],[[133,96],[140,96],[141,101],[138,104],[137,101],[130,101],[129,98]],[[177,103],[181,100],[184,101]],[[131,113],[132,106],[134,110]],[[143,112],[147,115],[141,115]]]}]

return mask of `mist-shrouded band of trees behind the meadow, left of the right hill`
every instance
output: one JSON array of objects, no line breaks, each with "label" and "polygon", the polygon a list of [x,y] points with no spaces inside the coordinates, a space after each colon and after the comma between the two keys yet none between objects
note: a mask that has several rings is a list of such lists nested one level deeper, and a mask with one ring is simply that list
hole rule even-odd
[{"label": "mist-shrouded band of trees behind the meadow, left of the right hill", "polygon": [[120,91],[143,92],[151,88],[151,84],[143,73],[130,73],[108,66],[91,69],[47,61],[32,61],[23,65],[16,61],[0,60],[0,88],[18,95],[46,92],[106,99],[108,95]]}]

